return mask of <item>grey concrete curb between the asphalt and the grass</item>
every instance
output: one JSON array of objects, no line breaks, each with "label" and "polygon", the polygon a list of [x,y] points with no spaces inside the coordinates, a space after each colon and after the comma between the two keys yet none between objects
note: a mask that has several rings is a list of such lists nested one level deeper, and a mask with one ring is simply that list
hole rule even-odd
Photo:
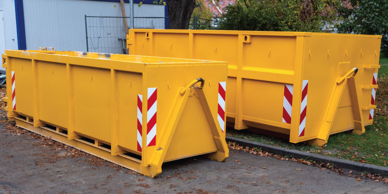
[{"label": "grey concrete curb between the asphalt and the grass", "polygon": [[230,136],[226,136],[226,142],[236,142],[240,146],[257,147],[263,151],[266,151],[272,154],[277,154],[280,156],[292,156],[296,159],[307,159],[315,162],[333,163],[336,167],[339,167],[339,168],[353,170],[356,172],[368,172],[371,174],[378,174],[384,177],[388,177],[388,168],[383,166],[348,161],[344,159],[322,156],[322,155],[312,154],[312,153],[299,151],[299,150],[286,149],[283,147],[272,146],[268,144],[253,142],[253,141],[230,137]]}]

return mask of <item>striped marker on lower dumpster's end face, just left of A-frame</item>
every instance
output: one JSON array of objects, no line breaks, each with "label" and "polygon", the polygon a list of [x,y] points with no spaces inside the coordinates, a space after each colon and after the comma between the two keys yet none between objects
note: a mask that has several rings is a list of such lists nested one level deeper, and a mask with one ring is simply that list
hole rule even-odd
[{"label": "striped marker on lower dumpster's end face, just left of A-frame", "polygon": [[147,147],[156,146],[157,88],[148,88],[147,96]]}]

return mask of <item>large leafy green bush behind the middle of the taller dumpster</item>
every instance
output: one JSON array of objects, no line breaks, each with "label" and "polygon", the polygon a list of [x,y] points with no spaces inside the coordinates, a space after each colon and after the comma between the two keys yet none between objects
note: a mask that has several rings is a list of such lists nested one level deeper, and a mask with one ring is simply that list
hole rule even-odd
[{"label": "large leafy green bush behind the middle of the taller dumpster", "polygon": [[338,1],[238,0],[226,7],[220,29],[322,32],[337,18],[328,5]]}]

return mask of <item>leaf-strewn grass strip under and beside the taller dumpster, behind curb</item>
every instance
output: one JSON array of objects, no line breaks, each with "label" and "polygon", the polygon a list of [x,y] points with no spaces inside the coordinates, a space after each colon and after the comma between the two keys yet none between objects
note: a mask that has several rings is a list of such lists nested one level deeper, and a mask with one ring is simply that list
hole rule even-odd
[{"label": "leaf-strewn grass strip under and beside the taller dumpster, behind curb", "polygon": [[345,131],[330,135],[326,145],[311,146],[292,144],[272,136],[265,136],[245,130],[228,130],[227,135],[255,142],[307,151],[356,162],[387,166],[388,163],[388,65],[381,66],[378,73],[376,105],[373,125],[365,127],[362,135]]}]

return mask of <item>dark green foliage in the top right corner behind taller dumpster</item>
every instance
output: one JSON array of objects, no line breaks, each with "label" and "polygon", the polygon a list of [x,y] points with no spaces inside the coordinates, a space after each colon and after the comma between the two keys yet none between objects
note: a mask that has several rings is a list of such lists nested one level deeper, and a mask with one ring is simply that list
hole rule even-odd
[{"label": "dark green foliage in the top right corner behind taller dumpster", "polygon": [[350,0],[352,8],[340,7],[339,32],[380,34],[382,56],[388,56],[388,0]]}]

